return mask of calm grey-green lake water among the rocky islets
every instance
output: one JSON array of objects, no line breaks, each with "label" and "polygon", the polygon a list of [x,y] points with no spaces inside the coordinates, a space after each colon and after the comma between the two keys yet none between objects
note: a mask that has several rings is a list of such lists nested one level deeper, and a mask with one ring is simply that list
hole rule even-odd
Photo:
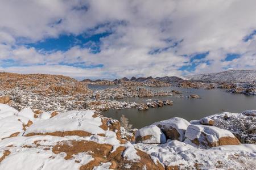
[{"label": "calm grey-green lake water among the rocky islets", "polygon": [[[101,86],[102,88],[109,88]],[[112,86],[113,87],[113,86]],[[115,86],[114,86],[115,87]],[[136,103],[146,103],[147,99],[172,100],[174,105],[165,105],[162,108],[149,108],[147,111],[138,109],[121,109],[103,112],[105,117],[112,117],[120,120],[122,114],[129,119],[134,128],[142,128],[154,122],[166,120],[171,117],[182,117],[185,120],[199,120],[210,114],[233,112],[240,113],[247,109],[256,109],[256,96],[246,96],[241,94],[229,94],[222,89],[203,90],[178,87],[150,87],[151,90],[179,90],[183,92],[184,98],[175,96],[156,97],[129,97],[117,99],[118,101],[135,101]],[[201,99],[188,99],[185,96],[196,94]]]}]

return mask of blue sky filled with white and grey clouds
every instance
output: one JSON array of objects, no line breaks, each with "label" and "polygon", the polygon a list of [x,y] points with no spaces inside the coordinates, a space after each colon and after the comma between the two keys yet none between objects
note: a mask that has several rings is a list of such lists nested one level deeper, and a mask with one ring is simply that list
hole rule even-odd
[{"label": "blue sky filled with white and grey clouds", "polygon": [[3,0],[0,71],[83,79],[256,70],[255,0]]}]

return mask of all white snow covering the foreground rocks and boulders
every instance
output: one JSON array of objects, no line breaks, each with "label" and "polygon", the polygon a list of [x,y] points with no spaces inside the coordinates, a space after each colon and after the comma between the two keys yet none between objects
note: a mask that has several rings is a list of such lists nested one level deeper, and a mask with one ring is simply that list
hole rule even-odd
[{"label": "all white snow covering the foreground rocks and boulders", "polygon": [[[247,118],[252,116],[244,116],[242,113],[220,113],[205,118],[212,119],[216,125],[226,121],[225,114],[229,120],[233,118]],[[199,138],[200,133],[204,132],[208,141],[217,141],[221,137],[234,137],[234,135],[225,129],[214,126],[198,125],[199,121],[188,122],[181,118],[172,118],[170,120],[157,122],[168,127],[174,126],[185,131],[185,142],[178,140],[168,140],[162,130],[156,125],[146,126],[139,129],[136,137],[141,135],[145,137],[152,135],[150,139],[142,143],[126,142],[120,144],[114,131],[103,130],[100,117],[94,117],[94,111],[68,111],[59,113],[51,117],[51,112],[43,112],[40,117],[34,118],[33,124],[25,131],[23,125],[32,119],[30,108],[23,109],[21,113],[7,105],[0,104],[0,158],[3,153],[8,150],[10,155],[0,163],[0,169],[80,169],[82,165],[94,160],[91,152],[79,152],[72,155],[72,159],[64,159],[67,154],[60,152],[54,154],[52,147],[58,143],[71,144],[71,141],[93,141],[98,144],[112,145],[112,152],[119,146],[125,147],[122,152],[123,158],[131,162],[140,162],[142,159],[137,155],[137,149],[146,152],[150,158],[157,164],[165,166],[177,165],[180,169],[196,169],[195,164],[199,164],[199,169],[255,169],[256,168],[256,145],[226,145],[212,147],[209,149],[201,149],[189,143],[190,139]],[[196,125],[195,125],[195,124]],[[156,123],[155,123],[156,124]],[[236,126],[236,124],[234,124]],[[233,126],[227,126],[232,127]],[[121,128],[122,129],[122,128]],[[25,137],[28,133],[45,133],[67,130],[83,130],[92,135],[88,137],[79,137],[76,135],[56,137],[52,135],[34,135]],[[17,137],[9,137],[11,134],[19,132]],[[97,135],[99,133],[105,136]],[[147,144],[159,143],[159,144]],[[190,145],[191,144],[191,145]],[[30,147],[24,147],[30,146]],[[49,150],[44,150],[48,148]],[[94,169],[109,169],[112,164],[110,162],[101,163]],[[131,163],[126,163],[122,168],[131,168]],[[143,169],[146,169],[143,166]]]}]

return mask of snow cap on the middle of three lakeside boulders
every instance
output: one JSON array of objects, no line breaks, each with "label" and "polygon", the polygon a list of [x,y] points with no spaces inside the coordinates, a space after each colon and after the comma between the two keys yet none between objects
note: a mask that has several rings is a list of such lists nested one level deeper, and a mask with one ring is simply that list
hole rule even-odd
[{"label": "snow cap on the middle of three lakeside boulders", "polygon": [[188,125],[190,125],[190,123],[184,118],[173,117],[168,120],[155,122],[152,125],[162,125],[162,126],[165,126],[167,129],[169,127],[175,128],[180,134],[179,140],[184,141],[184,133],[185,133],[185,130],[188,128]]}]

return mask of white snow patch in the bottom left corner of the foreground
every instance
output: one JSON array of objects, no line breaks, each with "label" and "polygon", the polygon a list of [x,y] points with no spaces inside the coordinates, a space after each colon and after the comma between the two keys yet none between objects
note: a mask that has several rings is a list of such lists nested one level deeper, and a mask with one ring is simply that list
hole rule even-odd
[{"label": "white snow patch in the bottom left corner of the foreground", "polygon": [[[75,159],[65,160],[65,154],[53,154],[52,151],[44,151],[38,148],[20,148],[11,150],[0,164],[1,170],[19,170],[19,169],[79,169],[82,164],[93,160],[92,156],[82,154],[75,156]],[[82,160],[81,163],[75,163],[75,160]]]}]

